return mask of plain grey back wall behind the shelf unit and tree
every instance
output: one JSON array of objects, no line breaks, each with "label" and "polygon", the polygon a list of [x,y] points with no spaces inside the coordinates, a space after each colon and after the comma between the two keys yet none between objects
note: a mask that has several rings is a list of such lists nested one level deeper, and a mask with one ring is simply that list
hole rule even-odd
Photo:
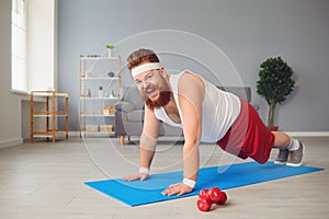
[{"label": "plain grey back wall behind the shelf unit and tree", "polygon": [[[252,88],[252,103],[260,105],[264,120],[268,106],[256,93],[259,65],[268,57],[282,56],[295,71],[297,88],[277,107],[276,124],[286,131],[328,131],[328,10],[327,0],[59,0],[58,87],[70,96],[69,128],[77,130],[79,124],[80,54],[103,54],[107,43],[117,43],[114,51],[124,60],[138,47],[161,51],[189,44],[193,47],[193,37],[177,42],[159,34],[136,36],[148,31],[178,30],[204,37],[228,56],[239,73],[239,83]],[[184,48],[184,55],[188,51]],[[216,68],[212,53],[196,58]],[[185,68],[179,59],[168,64],[174,69]],[[220,66],[222,81],[220,77],[228,76],[223,71],[229,69]],[[128,76],[123,83],[129,83]]]}]

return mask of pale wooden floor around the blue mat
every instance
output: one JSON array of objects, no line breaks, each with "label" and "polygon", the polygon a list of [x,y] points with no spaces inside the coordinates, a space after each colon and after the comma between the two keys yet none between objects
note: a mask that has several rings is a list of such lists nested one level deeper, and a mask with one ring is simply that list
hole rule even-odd
[{"label": "pale wooden floor around the blue mat", "polygon": [[[136,172],[136,141],[121,148],[118,139],[41,139],[1,149],[0,218],[329,218],[329,137],[298,139],[306,145],[305,164],[325,171],[228,189],[227,205],[209,212],[196,209],[196,196],[128,207],[83,184]],[[152,172],[180,170],[181,149],[160,141]],[[203,166],[238,162],[216,146],[201,146]]]}]

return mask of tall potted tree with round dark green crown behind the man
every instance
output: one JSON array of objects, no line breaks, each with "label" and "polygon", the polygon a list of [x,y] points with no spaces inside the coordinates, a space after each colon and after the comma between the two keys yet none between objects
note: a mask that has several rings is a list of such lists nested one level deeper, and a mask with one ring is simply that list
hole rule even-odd
[{"label": "tall potted tree with round dark green crown behind the man", "polygon": [[257,93],[264,96],[269,104],[269,128],[277,130],[277,126],[274,126],[275,106],[277,103],[282,104],[293,92],[295,81],[292,76],[294,71],[280,56],[268,58],[260,67]]}]

